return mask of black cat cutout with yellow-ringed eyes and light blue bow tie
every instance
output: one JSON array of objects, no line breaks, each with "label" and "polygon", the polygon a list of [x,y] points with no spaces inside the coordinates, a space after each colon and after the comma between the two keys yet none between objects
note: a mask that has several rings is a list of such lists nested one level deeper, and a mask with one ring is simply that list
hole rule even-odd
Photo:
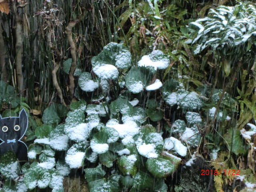
[{"label": "black cat cutout with yellow-ringed eyes and light blue bow tie", "polygon": [[28,160],[28,147],[20,139],[28,128],[28,116],[24,109],[18,117],[2,118],[0,115],[0,156],[12,150],[19,161]]}]

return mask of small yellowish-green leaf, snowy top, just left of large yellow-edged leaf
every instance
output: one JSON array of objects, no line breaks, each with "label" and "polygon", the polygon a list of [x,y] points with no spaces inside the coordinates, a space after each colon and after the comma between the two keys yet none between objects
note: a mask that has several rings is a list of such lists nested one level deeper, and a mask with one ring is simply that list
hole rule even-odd
[{"label": "small yellowish-green leaf, snowy top, just left of large yellow-edged leaf", "polygon": [[135,166],[136,160],[137,158],[135,155],[123,155],[117,161],[117,166],[123,174],[131,175],[134,177],[137,173],[137,167]]}]

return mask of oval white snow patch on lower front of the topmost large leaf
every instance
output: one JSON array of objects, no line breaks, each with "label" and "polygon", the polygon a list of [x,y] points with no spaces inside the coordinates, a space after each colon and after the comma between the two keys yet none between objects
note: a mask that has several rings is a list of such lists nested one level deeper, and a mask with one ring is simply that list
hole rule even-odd
[{"label": "oval white snow patch on lower front of the topmost large leaf", "polygon": [[103,64],[93,68],[94,73],[102,79],[114,79],[118,77],[118,69],[114,65]]}]

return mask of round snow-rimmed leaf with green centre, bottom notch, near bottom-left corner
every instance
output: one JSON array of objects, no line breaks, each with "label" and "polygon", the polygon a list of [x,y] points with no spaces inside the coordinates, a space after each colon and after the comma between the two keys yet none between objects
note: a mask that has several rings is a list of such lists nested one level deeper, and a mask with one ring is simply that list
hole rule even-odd
[{"label": "round snow-rimmed leaf with green centre, bottom notch, near bottom-left corner", "polygon": [[40,166],[34,166],[24,173],[24,183],[29,189],[46,188],[51,181],[49,170]]}]

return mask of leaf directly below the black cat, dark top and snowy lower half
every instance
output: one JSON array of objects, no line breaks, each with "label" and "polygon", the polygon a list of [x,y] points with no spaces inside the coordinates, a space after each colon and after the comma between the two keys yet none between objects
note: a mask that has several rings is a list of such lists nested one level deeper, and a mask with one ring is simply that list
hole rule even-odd
[{"label": "leaf directly below the black cat, dark top and snowy lower half", "polygon": [[7,151],[0,158],[0,172],[5,178],[16,179],[20,175],[20,164],[12,151]]}]

